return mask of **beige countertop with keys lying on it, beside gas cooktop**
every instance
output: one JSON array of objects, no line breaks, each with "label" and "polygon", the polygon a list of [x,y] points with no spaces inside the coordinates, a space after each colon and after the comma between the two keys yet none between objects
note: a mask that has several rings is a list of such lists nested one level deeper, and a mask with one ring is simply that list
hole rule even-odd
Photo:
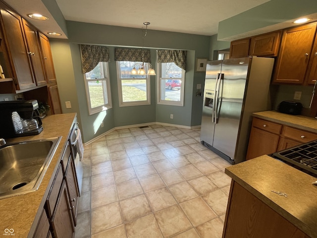
[{"label": "beige countertop with keys lying on it, beside gas cooktop", "polygon": [[304,233],[317,238],[317,186],[312,184],[316,178],[266,155],[227,167],[225,173]]}]

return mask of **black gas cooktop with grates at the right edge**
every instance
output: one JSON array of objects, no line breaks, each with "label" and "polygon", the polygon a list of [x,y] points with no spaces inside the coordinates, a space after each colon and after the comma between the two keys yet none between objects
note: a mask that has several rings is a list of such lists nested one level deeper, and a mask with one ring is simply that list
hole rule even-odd
[{"label": "black gas cooktop with grates at the right edge", "polygon": [[317,140],[269,156],[317,178]]}]

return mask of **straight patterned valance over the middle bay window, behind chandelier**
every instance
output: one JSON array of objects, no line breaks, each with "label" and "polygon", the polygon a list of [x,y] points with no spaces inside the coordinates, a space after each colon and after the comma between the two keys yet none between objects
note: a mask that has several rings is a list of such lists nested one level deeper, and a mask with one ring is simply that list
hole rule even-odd
[{"label": "straight patterned valance over the middle bay window, behind chandelier", "polygon": [[151,53],[148,49],[129,49],[129,48],[115,48],[114,60],[116,61],[131,61],[142,62],[142,55],[144,54],[144,62],[151,63]]}]

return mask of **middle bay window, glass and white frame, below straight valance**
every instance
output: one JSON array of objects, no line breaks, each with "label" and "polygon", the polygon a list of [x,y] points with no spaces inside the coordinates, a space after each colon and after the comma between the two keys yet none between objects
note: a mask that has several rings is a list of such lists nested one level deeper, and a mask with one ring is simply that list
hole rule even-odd
[{"label": "middle bay window, glass and white frame, below straight valance", "polygon": [[150,76],[131,74],[131,70],[136,63],[142,64],[142,62],[117,61],[120,107],[151,104]]}]

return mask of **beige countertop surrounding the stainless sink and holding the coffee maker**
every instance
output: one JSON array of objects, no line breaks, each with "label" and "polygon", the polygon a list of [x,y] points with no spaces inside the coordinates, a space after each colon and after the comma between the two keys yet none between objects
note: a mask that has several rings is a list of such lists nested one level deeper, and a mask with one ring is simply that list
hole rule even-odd
[{"label": "beige countertop surrounding the stainless sink and holding the coffee maker", "polygon": [[43,131],[39,135],[6,139],[6,142],[10,143],[61,136],[59,145],[39,189],[23,195],[0,199],[0,235],[6,235],[5,229],[13,229],[14,237],[16,238],[26,238],[30,231],[30,235],[34,232],[75,117],[75,113],[47,116],[42,119]]}]

